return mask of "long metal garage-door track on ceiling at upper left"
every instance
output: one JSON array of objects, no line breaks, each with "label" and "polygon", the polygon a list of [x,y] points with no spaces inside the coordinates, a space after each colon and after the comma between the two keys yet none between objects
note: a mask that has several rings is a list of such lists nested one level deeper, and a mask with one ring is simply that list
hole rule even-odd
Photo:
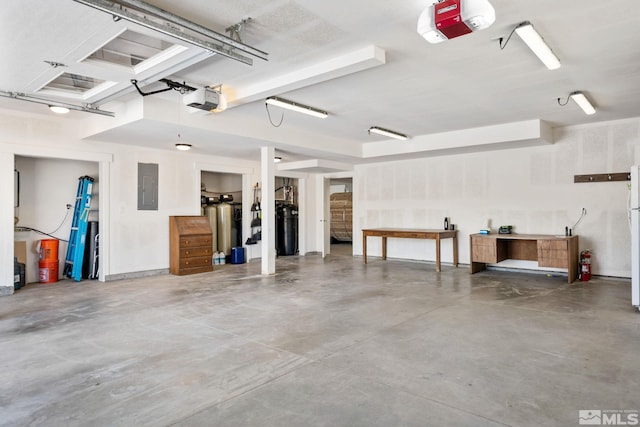
[{"label": "long metal garage-door track on ceiling at upper left", "polygon": [[[100,10],[102,12],[106,12],[109,13],[110,15],[113,15],[115,17],[127,20],[129,22],[133,22],[134,24],[138,24],[141,25],[145,28],[149,28],[151,30],[157,31],[159,33],[168,35],[170,37],[175,37],[178,40],[182,40],[186,43],[192,44],[194,46],[198,46],[202,49],[211,51],[211,52],[215,52],[217,54],[220,54],[222,56],[225,56],[227,58],[230,59],[234,59],[236,61],[245,63],[247,65],[253,65],[253,60],[251,58],[248,58],[244,55],[241,55],[239,53],[236,52],[236,50],[240,50],[242,52],[251,54],[253,56],[257,56],[260,59],[266,59],[266,57],[260,56],[259,50],[251,48],[249,46],[244,45],[243,43],[239,43],[233,39],[230,39],[226,36],[223,36],[221,34],[216,33],[215,31],[209,30],[205,27],[202,27],[196,23],[187,21],[183,18],[179,18],[180,21],[183,24],[180,24],[179,22],[174,22],[174,24],[176,25],[182,25],[184,27],[187,27],[189,29],[191,29],[194,32],[200,33],[201,35],[205,35],[211,39],[213,39],[214,41],[208,41],[208,40],[203,40],[203,39],[198,39],[194,36],[191,36],[189,34],[186,34],[184,31],[177,29],[177,28],[173,28],[170,27],[168,25],[161,25],[157,22],[154,22],[148,18],[146,18],[145,16],[138,16],[135,13],[132,13],[129,10],[123,9],[123,4],[121,3],[116,3],[114,1],[111,0],[74,0],[77,3],[81,3],[84,4],[85,6],[89,6],[92,7],[94,9]],[[131,2],[130,2],[131,3]],[[143,3],[143,2],[137,2],[137,3]],[[150,10],[153,9],[157,9],[159,11],[163,12],[163,15],[165,15],[166,17],[169,16],[175,16],[167,11],[164,11],[162,9],[158,9],[155,8],[151,5],[147,5],[145,4],[144,6],[145,8],[148,8]],[[151,12],[149,12],[151,13]],[[155,14],[155,12],[154,12]],[[167,19],[166,17],[163,16],[156,16],[159,17],[161,19]],[[171,20],[169,20],[171,21]],[[168,22],[171,23],[171,22]],[[188,23],[188,25],[185,25],[186,23]],[[196,29],[197,28],[197,29]],[[209,34],[205,34],[205,33],[209,33]],[[264,54],[264,52],[262,52],[262,54]]]}]

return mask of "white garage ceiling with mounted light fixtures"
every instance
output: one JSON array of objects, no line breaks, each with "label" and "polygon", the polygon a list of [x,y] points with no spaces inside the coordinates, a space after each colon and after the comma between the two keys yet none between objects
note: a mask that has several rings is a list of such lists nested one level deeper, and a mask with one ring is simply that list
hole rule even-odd
[{"label": "white garage ceiling with mounted light fixtures", "polygon": [[[270,145],[285,161],[358,163],[365,161],[364,144],[385,140],[369,135],[371,126],[416,139],[534,119],[556,127],[640,115],[635,0],[491,0],[493,26],[437,45],[416,33],[427,0],[147,2],[219,33],[250,17],[243,41],[268,52],[269,60],[249,66],[187,46],[182,66],[200,62],[181,70],[176,62],[170,74],[140,79],[145,90],[162,88],[152,83],[162,77],[197,87],[223,84],[231,107],[217,114],[189,114],[174,91],[140,102],[129,76],[114,74],[117,96],[101,108],[116,117],[92,117],[99,131],[85,135],[90,139],[170,149],[180,133],[195,153],[259,159],[259,147]],[[5,0],[0,14],[0,90],[11,92],[34,92],[60,72],[43,61],[77,63],[124,26],[136,28],[73,0]],[[547,70],[518,37],[500,49],[498,38],[525,20],[560,58],[559,70]],[[589,96],[596,115],[586,116],[572,102],[558,105],[557,98],[575,90]],[[275,128],[264,106],[269,95],[330,116],[286,112]],[[52,114],[7,98],[0,98],[0,108]],[[279,121],[282,110],[270,110]],[[57,120],[85,116],[92,115],[72,112]]]}]

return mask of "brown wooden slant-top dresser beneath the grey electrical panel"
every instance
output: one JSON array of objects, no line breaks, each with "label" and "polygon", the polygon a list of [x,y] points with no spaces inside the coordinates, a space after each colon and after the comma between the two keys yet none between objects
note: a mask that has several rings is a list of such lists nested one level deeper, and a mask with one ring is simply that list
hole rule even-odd
[{"label": "brown wooden slant-top dresser beneath the grey electrical panel", "polygon": [[212,234],[206,216],[169,217],[169,271],[179,276],[213,271]]}]

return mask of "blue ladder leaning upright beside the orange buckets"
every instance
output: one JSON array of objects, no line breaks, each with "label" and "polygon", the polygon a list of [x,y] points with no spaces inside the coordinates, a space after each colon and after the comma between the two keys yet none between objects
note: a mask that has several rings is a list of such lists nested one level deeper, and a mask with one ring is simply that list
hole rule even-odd
[{"label": "blue ladder leaning upright beside the orange buckets", "polygon": [[78,178],[78,194],[73,208],[73,222],[71,235],[67,245],[67,257],[64,261],[64,275],[79,282],[82,279],[82,261],[84,245],[87,238],[87,223],[89,222],[89,208],[91,207],[91,190],[93,178],[81,176]]}]

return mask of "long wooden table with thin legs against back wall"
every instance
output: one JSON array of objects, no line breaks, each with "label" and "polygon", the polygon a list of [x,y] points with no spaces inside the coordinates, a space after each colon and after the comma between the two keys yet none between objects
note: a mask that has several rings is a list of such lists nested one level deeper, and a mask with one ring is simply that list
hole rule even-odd
[{"label": "long wooden table with thin legs against back wall", "polygon": [[458,266],[458,230],[430,230],[420,228],[363,228],[362,259],[367,263],[367,237],[382,237],[382,259],[387,259],[387,238],[433,239],[436,241],[436,271],[440,271],[440,240],[453,239],[453,264]]}]

